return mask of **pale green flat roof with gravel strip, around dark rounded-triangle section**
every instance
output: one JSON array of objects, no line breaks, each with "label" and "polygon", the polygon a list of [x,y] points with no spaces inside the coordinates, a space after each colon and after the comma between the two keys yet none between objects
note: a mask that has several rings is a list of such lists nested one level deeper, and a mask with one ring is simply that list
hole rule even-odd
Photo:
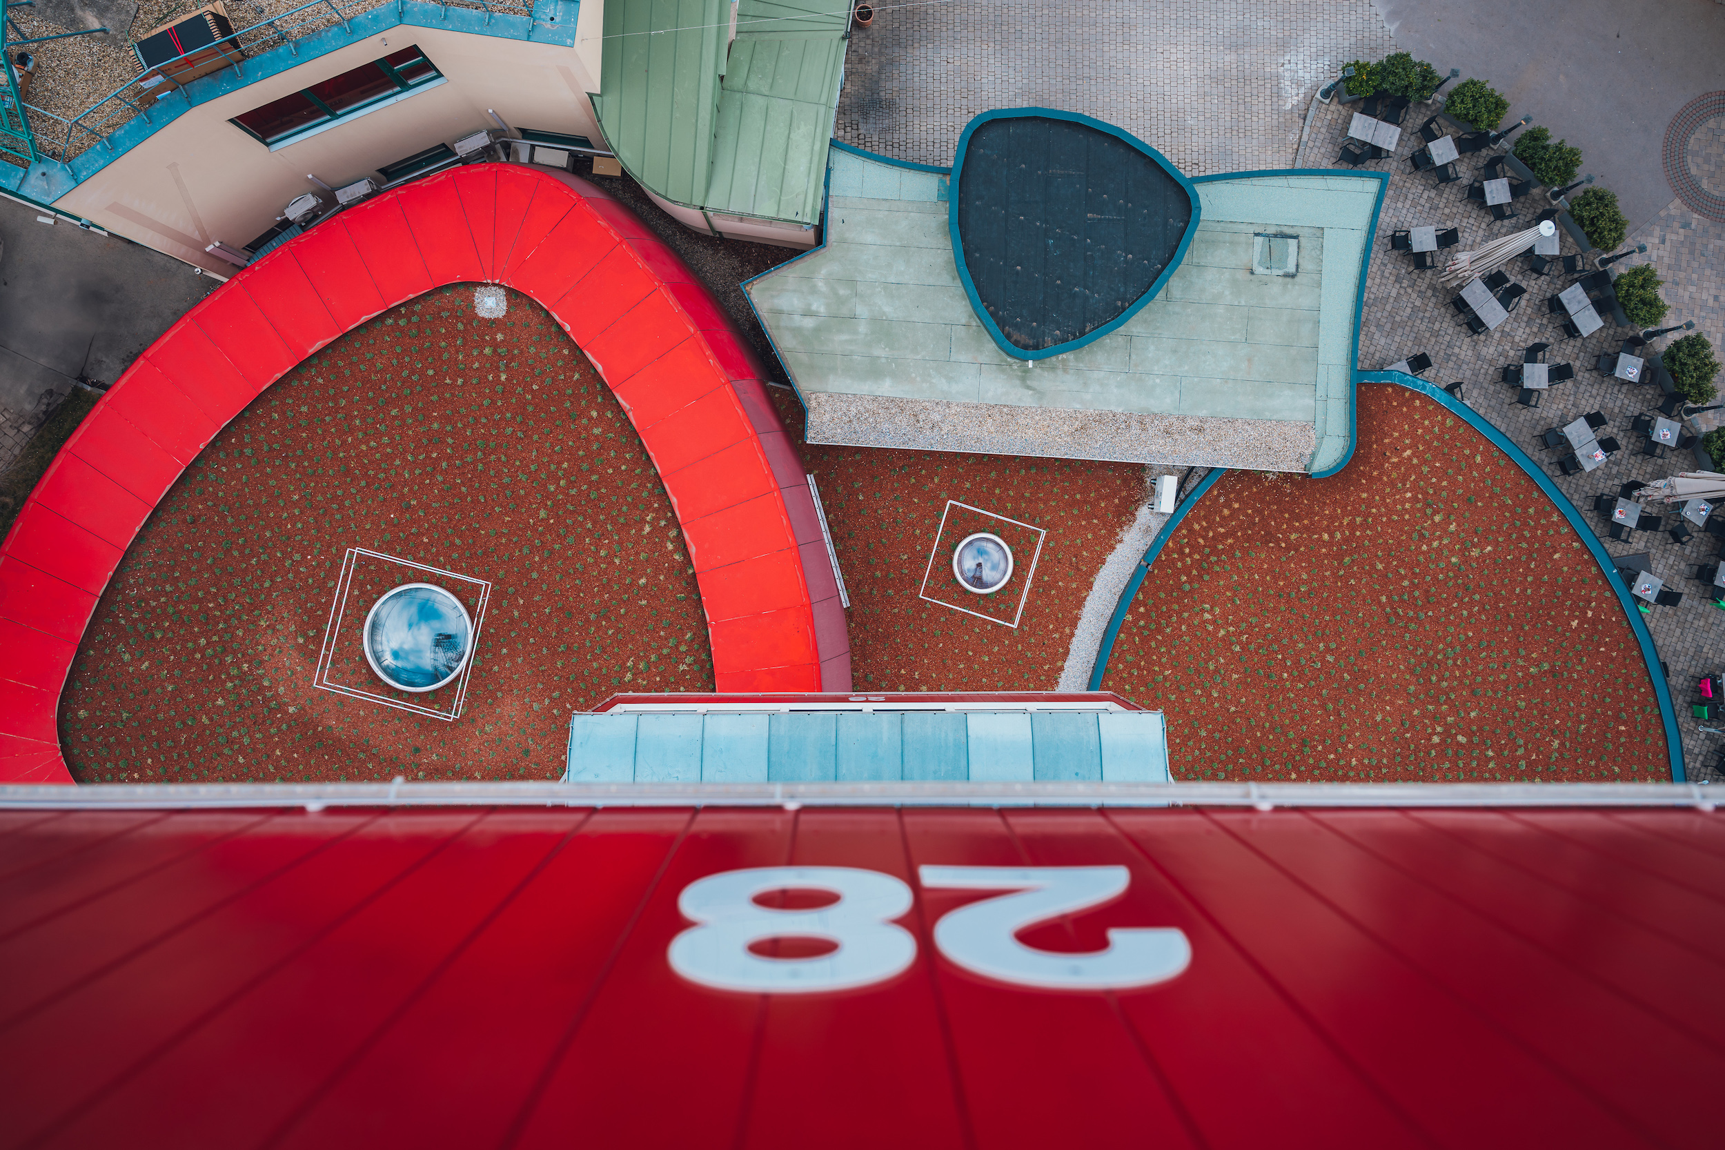
[{"label": "pale green flat roof with gravel strip, around dark rounded-triangle section", "polygon": [[[749,284],[818,443],[1321,471],[1347,448],[1354,300],[1380,183],[1199,183],[1182,266],[1118,331],[1004,355],[952,260],[945,178],[833,148],[826,245]],[[1252,236],[1299,236],[1254,276]]]}]

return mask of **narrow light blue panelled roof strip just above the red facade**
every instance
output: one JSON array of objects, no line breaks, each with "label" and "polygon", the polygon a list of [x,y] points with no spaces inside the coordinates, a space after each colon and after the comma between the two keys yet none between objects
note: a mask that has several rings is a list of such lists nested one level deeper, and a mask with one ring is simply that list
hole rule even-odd
[{"label": "narrow light blue panelled roof strip just above the red facade", "polygon": [[1157,710],[576,714],[568,783],[1166,783]]}]

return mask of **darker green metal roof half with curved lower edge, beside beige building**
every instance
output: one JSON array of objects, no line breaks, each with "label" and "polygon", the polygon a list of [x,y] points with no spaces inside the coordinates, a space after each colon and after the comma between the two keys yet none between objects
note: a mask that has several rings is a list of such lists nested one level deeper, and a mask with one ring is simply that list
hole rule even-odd
[{"label": "darker green metal roof half with curved lower edge, beside beige building", "polygon": [[599,126],[630,174],[676,203],[707,191],[730,19],[724,0],[605,5]]}]

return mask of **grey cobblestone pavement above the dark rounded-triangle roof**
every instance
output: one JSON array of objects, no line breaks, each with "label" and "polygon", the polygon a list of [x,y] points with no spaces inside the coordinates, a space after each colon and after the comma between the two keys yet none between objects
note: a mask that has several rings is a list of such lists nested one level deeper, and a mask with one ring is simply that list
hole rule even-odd
[{"label": "grey cobblestone pavement above the dark rounded-triangle roof", "polygon": [[1311,93],[1389,52],[1370,0],[883,5],[850,34],[837,134],[947,166],[978,112],[1052,107],[1125,128],[1189,176],[1287,167]]}]

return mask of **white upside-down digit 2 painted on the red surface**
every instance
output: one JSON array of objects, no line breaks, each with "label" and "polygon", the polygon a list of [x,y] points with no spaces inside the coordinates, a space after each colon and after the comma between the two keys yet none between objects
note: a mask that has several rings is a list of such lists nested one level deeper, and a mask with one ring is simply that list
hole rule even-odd
[{"label": "white upside-down digit 2 painted on the red surface", "polygon": [[1192,962],[1192,945],[1175,928],[1109,929],[1107,950],[1092,953],[1018,941],[1026,926],[1125,893],[1126,867],[921,867],[919,876],[937,890],[1016,891],[959,907],[935,924],[940,953],[983,978],[1045,990],[1125,990],[1175,978]]}]

